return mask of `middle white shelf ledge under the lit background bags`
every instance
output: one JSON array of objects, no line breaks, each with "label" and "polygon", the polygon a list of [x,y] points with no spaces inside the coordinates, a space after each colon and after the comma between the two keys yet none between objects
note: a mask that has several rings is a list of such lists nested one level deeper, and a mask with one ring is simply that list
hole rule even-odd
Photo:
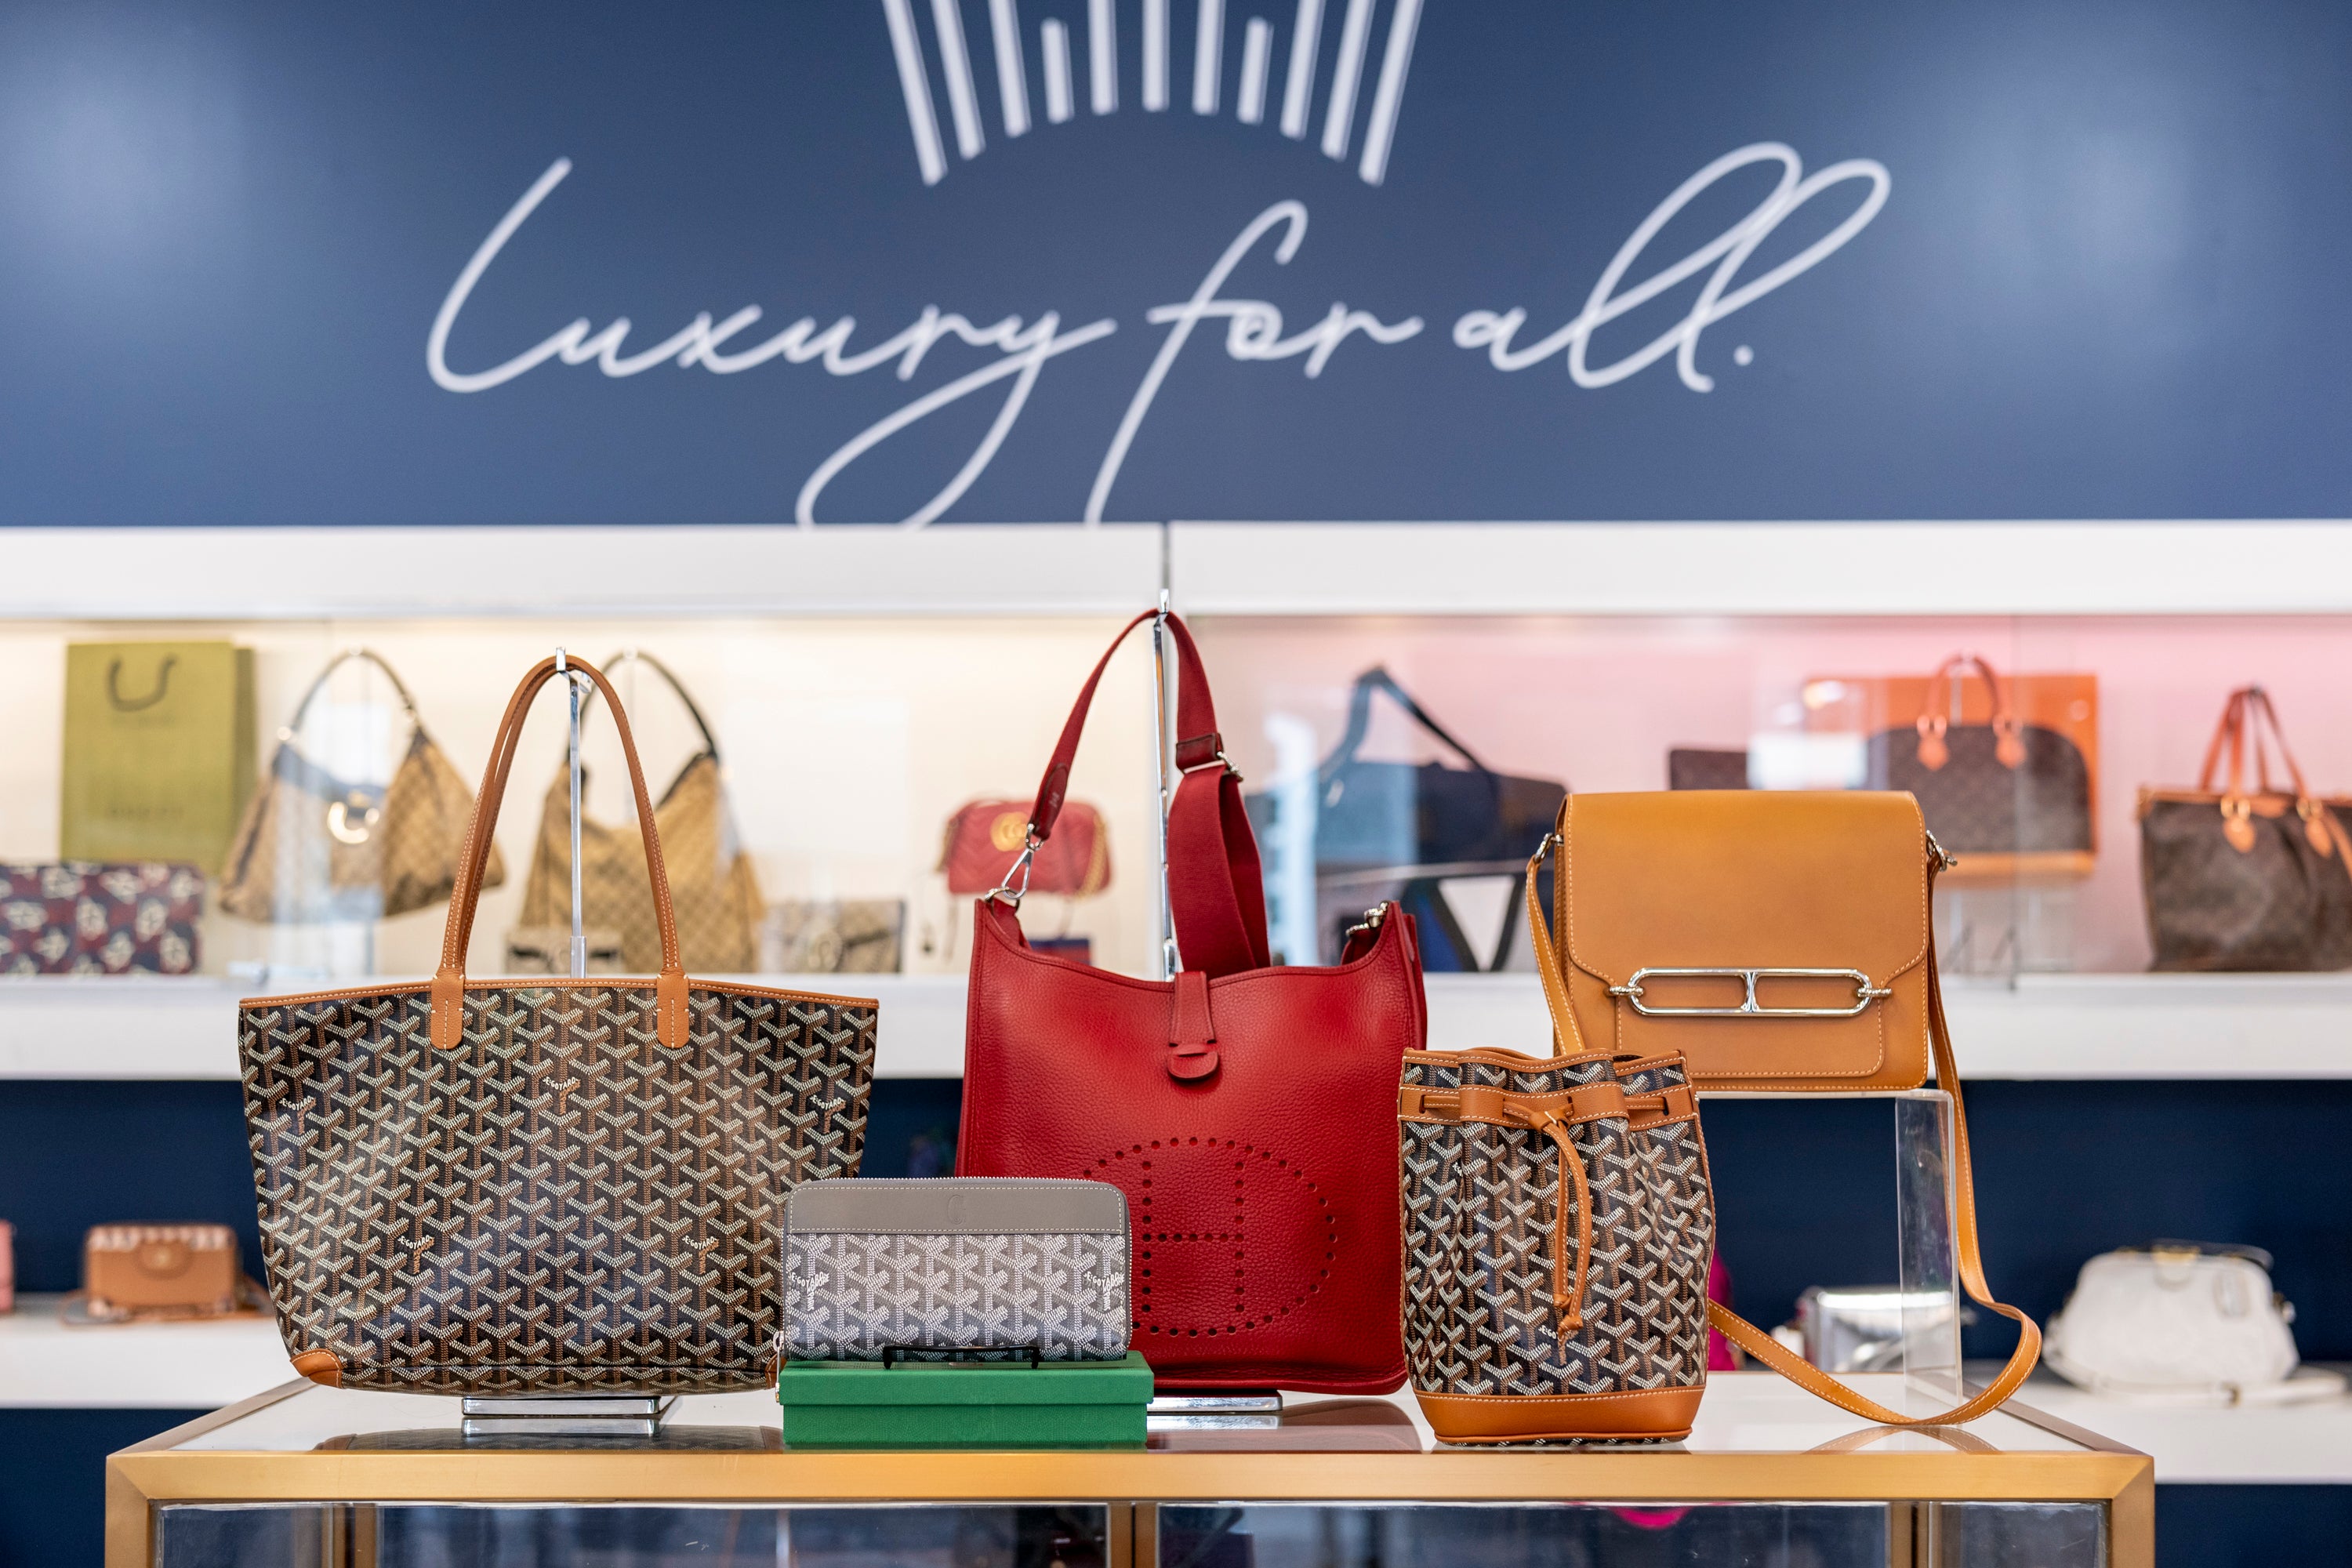
[{"label": "middle white shelf ledge under the lit background bags", "polygon": [[[964,976],[760,976],[882,1006],[875,1072],[964,1070]],[[0,1079],[233,1079],[230,980],[0,980]],[[1534,976],[1430,976],[1430,1044],[1541,1051]],[[1971,1079],[2352,1079],[2347,976],[2020,976],[1945,983]]]}]

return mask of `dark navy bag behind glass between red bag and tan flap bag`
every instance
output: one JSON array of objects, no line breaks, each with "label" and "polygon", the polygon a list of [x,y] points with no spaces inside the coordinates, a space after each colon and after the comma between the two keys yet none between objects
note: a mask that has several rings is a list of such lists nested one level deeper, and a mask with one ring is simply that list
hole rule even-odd
[{"label": "dark navy bag behind glass between red bag and tan flap bag", "polygon": [[[1364,757],[1376,696],[1402,708],[1463,766]],[[1501,969],[1519,940],[1512,931],[1517,903],[1505,905],[1503,929],[1489,950],[1465,933],[1444,884],[1456,877],[1515,877],[1552,830],[1564,795],[1566,785],[1550,778],[1494,771],[1385,668],[1364,670],[1348,693],[1348,729],[1315,766],[1315,926],[1322,954],[1338,954],[1364,905],[1395,898],[1421,919],[1430,971]],[[1251,827],[1279,842],[1275,825],[1291,799],[1270,790],[1247,804]]]}]

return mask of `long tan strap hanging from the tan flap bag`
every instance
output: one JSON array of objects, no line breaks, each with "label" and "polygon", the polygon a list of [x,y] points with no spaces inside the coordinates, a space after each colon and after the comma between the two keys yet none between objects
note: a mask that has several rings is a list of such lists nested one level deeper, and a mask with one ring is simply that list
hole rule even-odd
[{"label": "long tan strap hanging from the tan flap bag", "polygon": [[[1545,919],[1543,900],[1536,896],[1536,872],[1543,870],[1543,858],[1550,856],[1555,846],[1559,846],[1559,835],[1545,835],[1543,844],[1536,846],[1536,856],[1526,863],[1526,936],[1536,945],[1536,973],[1543,976],[1543,1001],[1552,1011],[1552,1027],[1559,1032],[1562,1051],[1581,1056],[1585,1051],[1585,1037],[1576,1027],[1576,1011],[1569,1006],[1569,983],[1559,969],[1559,952],[1552,947],[1552,926]],[[1929,851],[1931,891],[1933,877],[1940,867],[1943,858]],[[1708,1321],[1726,1340],[1802,1387],[1806,1394],[1828,1399],[1832,1406],[1851,1410],[1863,1420],[1875,1420],[1882,1427],[1952,1427],[1971,1422],[1978,1415],[1990,1415],[2018,1392],[2025,1378],[2034,1371],[2034,1363],[2042,1359],[2042,1328],[2037,1328],[2034,1321],[2016,1307],[1992,1300],[1992,1286],[1985,1284],[1985,1262],[1976,1251],[1976,1173],[1969,1164],[1969,1112],[1959,1103],[1959,1065],[1952,1060],[1952,1032],[1943,1020],[1943,980],[1936,973],[1933,940],[1931,929],[1926,966],[1926,1030],[1929,1048],[1936,1058],[1936,1084],[1952,1095],[1952,1180],[1957,1182],[1952,1194],[1952,1239],[1957,1241],[1955,1251],[1959,1253],[1959,1284],[1969,1293],[1969,1300],[1999,1312],[2018,1326],[2018,1349],[2009,1356],[2009,1366],[2004,1366],[2002,1375],[1994,1378],[1980,1394],[1940,1415],[1898,1415],[1877,1401],[1863,1399],[1844,1382],[1788,1349],[1780,1340],[1771,1338],[1729,1307],[1708,1302]]]}]

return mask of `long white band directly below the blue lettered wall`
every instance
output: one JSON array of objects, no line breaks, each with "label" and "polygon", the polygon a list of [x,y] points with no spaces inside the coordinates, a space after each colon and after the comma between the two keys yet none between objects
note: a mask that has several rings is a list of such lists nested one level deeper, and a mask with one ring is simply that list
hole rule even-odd
[{"label": "long white band directly below the blue lettered wall", "polygon": [[[1162,548],[1167,562],[1162,562]],[[0,618],[2352,614],[2352,522],[0,529]]]}]

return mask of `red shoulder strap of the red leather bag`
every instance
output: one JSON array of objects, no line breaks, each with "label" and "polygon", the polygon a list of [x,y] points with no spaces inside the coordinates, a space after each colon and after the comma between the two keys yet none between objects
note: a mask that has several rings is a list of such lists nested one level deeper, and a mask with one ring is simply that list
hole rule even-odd
[{"label": "red shoulder strap of the red leather bag", "polygon": [[[1110,649],[1096,661],[1077,705],[1061,726],[1054,759],[1037,783],[1028,830],[1037,844],[1054,837],[1054,820],[1070,790],[1070,764],[1087,731],[1094,689],[1103,682],[1110,656],[1127,632],[1152,621],[1143,611],[1120,628]],[[1202,665],[1192,632],[1176,616],[1167,618],[1176,644],[1176,799],[1169,804],[1169,910],[1176,922],[1176,947],[1185,969],[1211,976],[1265,969],[1265,877],[1258,867],[1258,839],[1242,809],[1242,776],[1225,762],[1225,741],[1216,731],[1216,703],[1209,698],[1209,672]]]}]

